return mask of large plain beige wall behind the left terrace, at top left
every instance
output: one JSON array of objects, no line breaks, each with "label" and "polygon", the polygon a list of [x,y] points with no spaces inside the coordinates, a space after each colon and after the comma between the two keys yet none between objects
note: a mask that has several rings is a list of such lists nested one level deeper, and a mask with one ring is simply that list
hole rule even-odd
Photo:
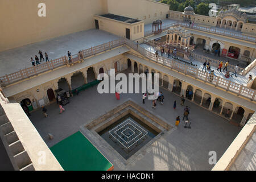
[{"label": "large plain beige wall behind the left terrace, at top left", "polygon": [[[38,16],[41,2],[46,17]],[[93,15],[104,13],[106,0],[2,0],[0,51],[94,28]]]}]

